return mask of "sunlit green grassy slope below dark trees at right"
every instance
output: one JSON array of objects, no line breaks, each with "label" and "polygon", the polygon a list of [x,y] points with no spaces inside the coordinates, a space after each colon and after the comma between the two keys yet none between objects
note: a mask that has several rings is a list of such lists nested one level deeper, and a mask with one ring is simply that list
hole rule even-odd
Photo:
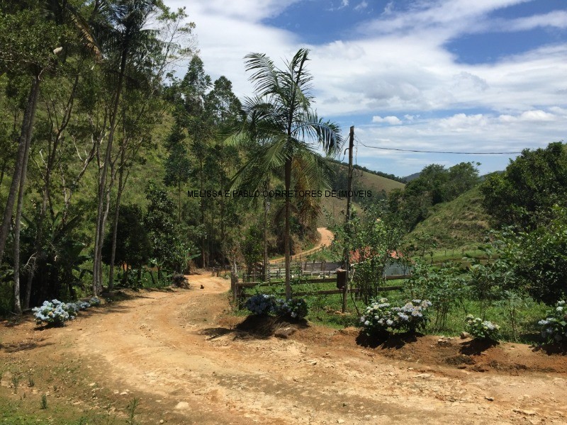
[{"label": "sunlit green grassy slope below dark trees at right", "polygon": [[488,230],[488,215],[481,206],[478,186],[447,203],[434,205],[431,214],[405,237],[405,242],[437,248],[474,248]]}]

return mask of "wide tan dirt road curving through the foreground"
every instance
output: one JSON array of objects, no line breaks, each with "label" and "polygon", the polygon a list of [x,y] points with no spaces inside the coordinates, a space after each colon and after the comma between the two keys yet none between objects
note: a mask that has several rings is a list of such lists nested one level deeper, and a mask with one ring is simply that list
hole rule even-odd
[{"label": "wide tan dirt road curving through the foreground", "polygon": [[256,338],[232,329],[243,318],[218,321],[228,280],[191,276],[191,287],[145,293],[62,332],[103,370],[96,385],[140,395],[147,423],[567,423],[566,375],[408,363],[337,344],[354,336],[327,328]]}]

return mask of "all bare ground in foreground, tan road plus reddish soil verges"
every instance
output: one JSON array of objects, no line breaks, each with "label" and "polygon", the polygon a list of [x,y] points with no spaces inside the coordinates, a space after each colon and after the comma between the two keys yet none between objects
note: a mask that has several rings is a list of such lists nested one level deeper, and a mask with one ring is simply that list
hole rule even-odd
[{"label": "all bare ground in foreground, tan road plus reddish soil verges", "polygon": [[[64,328],[0,324],[1,372],[33,370],[30,406],[48,391],[50,405],[75,409],[65,414],[112,412],[116,423],[133,397],[147,424],[567,423],[561,354],[234,317],[228,280],[188,278],[189,290],[128,293]],[[2,382],[0,399],[16,402]]]}]

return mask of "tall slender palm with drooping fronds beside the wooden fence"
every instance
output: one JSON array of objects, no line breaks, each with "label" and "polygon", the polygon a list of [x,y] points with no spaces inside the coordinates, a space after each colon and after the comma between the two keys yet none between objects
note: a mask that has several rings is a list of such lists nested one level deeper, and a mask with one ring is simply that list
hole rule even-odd
[{"label": "tall slender palm with drooping fronds beside the wooden fence", "polygon": [[[247,120],[235,137],[259,140],[261,146],[237,173],[235,182],[257,180],[259,183],[281,168],[286,193],[291,188],[292,174],[301,173],[305,181],[314,185],[328,181],[330,170],[316,148],[322,147],[327,156],[334,155],[342,145],[342,137],[337,124],[318,118],[311,108],[313,77],[305,69],[308,53],[307,49],[298,50],[283,69],[262,53],[245,57],[246,69],[252,72],[250,80],[254,83],[255,96],[245,101]],[[300,163],[301,168],[294,169],[293,164]],[[286,297],[290,298],[290,196],[285,197],[284,209]]]}]

